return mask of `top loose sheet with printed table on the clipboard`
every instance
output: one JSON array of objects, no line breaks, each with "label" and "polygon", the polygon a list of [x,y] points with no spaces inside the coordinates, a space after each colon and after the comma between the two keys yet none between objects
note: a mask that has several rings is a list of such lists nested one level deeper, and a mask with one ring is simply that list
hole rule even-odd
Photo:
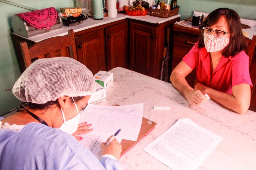
[{"label": "top loose sheet with printed table on the clipboard", "polygon": [[88,104],[79,122],[92,123],[89,135],[109,137],[121,129],[119,138],[136,141],[143,116],[143,103],[126,106],[100,106]]}]

